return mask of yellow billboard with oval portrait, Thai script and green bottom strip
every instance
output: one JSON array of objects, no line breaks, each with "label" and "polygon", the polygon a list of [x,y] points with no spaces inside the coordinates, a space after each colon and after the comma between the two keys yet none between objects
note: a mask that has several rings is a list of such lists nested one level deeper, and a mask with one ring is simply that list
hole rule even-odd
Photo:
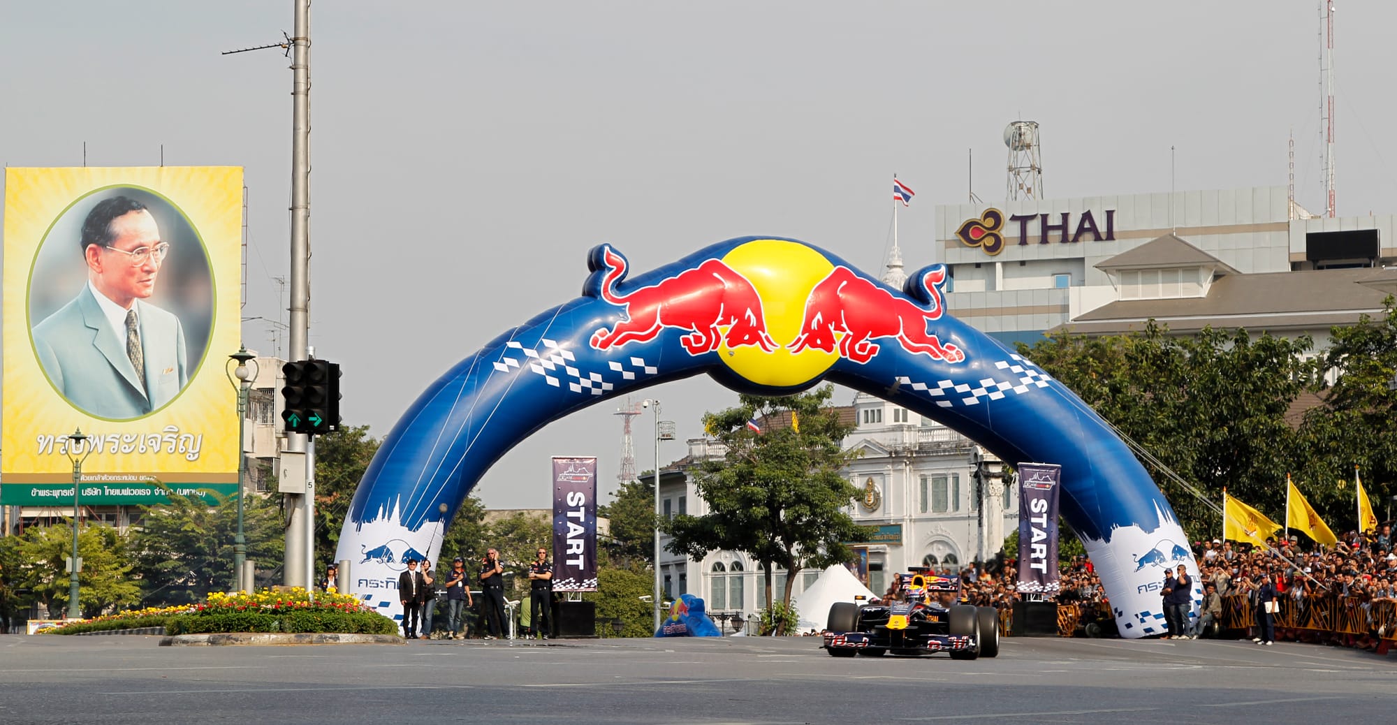
[{"label": "yellow billboard with oval portrait, Thai script and green bottom strip", "polygon": [[[237,490],[243,170],[6,169],[0,503]],[[74,430],[88,440],[70,450]]]}]

